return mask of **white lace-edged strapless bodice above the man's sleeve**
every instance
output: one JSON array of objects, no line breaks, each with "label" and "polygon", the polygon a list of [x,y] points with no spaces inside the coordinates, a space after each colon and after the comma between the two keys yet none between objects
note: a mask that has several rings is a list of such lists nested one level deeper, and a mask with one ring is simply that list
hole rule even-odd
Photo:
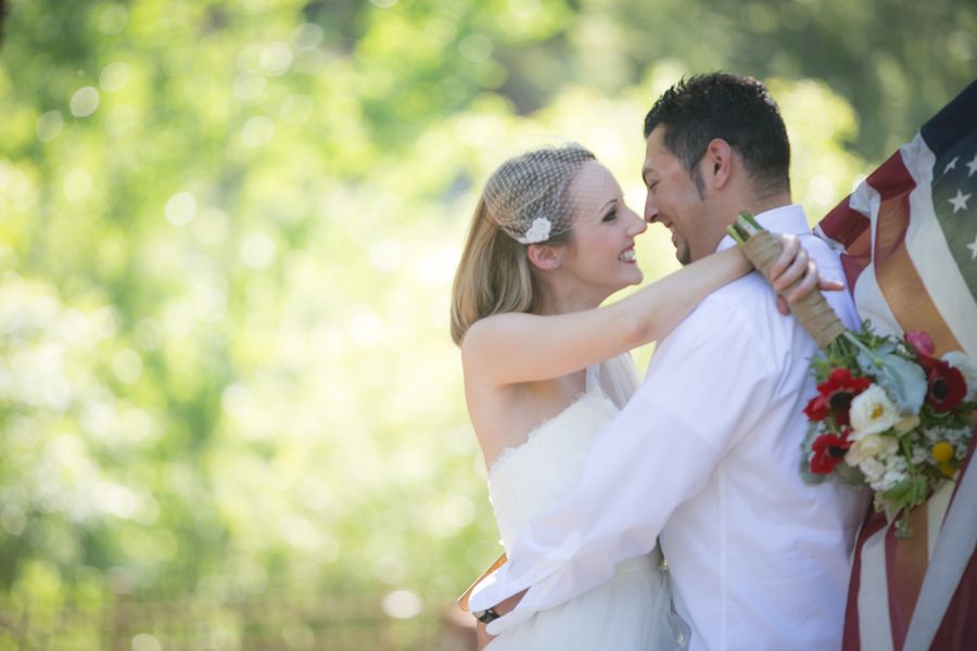
[{"label": "white lace-edged strapless bodice above the man's sleeve", "polygon": [[508,551],[519,531],[555,506],[580,482],[594,437],[637,386],[630,356],[587,369],[586,392],[507,448],[488,471],[488,496]]}]

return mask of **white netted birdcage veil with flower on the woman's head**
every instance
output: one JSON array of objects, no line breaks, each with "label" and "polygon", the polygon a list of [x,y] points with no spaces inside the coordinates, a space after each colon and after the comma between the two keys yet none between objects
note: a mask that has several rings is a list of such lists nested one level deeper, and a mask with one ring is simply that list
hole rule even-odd
[{"label": "white netted birdcage veil with flower on the woman's head", "polygon": [[569,191],[594,154],[576,143],[541,146],[509,158],[483,192],[488,216],[520,244],[547,242],[573,226]]}]

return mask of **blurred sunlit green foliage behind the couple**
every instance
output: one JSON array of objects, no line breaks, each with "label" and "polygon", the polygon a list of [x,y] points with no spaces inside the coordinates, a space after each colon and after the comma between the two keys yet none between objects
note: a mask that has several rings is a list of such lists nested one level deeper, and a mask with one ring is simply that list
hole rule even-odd
[{"label": "blurred sunlit green foliage behind the couple", "polygon": [[[7,14],[0,648],[123,598],[377,595],[427,635],[499,552],[447,329],[493,166],[576,140],[639,210],[645,112],[727,69],[781,103],[813,221],[977,63],[977,5],[953,0]],[[649,278],[674,269],[656,230]],[[210,624],[208,648],[246,637]],[[282,644],[317,647],[292,625]]]}]

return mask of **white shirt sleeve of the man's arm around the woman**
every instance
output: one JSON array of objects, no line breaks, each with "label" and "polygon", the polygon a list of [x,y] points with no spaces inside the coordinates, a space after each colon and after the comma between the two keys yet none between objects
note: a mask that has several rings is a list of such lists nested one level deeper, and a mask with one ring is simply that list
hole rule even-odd
[{"label": "white shirt sleeve of the man's arm around the woman", "polygon": [[472,610],[530,588],[488,626],[498,635],[604,583],[649,552],[675,508],[709,481],[773,391],[757,328],[713,294],[659,345],[645,382],[595,439],[580,486],[521,532],[509,563],[479,586]]}]

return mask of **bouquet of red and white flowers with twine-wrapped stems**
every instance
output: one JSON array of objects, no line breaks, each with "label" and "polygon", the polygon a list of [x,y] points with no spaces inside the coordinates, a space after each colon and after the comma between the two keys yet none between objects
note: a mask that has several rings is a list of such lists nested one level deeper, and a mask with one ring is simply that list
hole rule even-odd
[{"label": "bouquet of red and white flowers with twine-wrapped stems", "polygon": [[[776,238],[748,213],[729,233],[766,275],[781,253]],[[963,353],[935,357],[925,332],[881,336],[868,321],[847,330],[817,292],[792,309],[822,350],[811,361],[817,395],[804,408],[802,476],[814,484],[833,478],[870,486],[876,510],[890,521],[902,513],[897,535],[910,536],[909,510],[951,481],[966,456],[977,413],[977,365]]]}]

